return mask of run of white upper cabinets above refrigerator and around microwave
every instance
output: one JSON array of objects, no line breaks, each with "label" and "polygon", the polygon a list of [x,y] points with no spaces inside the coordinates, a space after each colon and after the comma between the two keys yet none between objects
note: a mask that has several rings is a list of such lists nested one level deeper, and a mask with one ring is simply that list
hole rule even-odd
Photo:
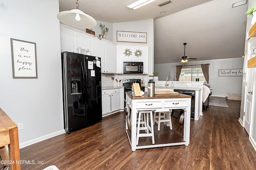
[{"label": "run of white upper cabinets above refrigerator and around microwave", "polygon": [[143,74],[149,73],[149,47],[146,45],[116,45],[99,40],[91,34],[60,24],[60,49],[76,53],[76,48],[89,49],[101,58],[101,73],[123,74],[124,62],[143,62]]}]

